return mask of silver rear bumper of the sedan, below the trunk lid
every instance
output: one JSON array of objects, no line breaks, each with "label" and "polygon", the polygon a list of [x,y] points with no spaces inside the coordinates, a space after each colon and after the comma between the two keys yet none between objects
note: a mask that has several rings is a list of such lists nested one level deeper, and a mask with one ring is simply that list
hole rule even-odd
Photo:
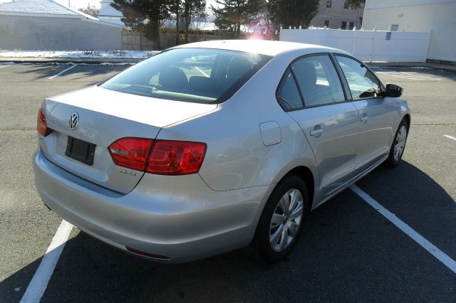
[{"label": "silver rear bumper of the sedan, below the trunk lid", "polygon": [[41,199],[95,238],[188,262],[248,245],[271,186],[213,191],[197,174],[145,174],[127,194],[81,179],[33,155]]}]

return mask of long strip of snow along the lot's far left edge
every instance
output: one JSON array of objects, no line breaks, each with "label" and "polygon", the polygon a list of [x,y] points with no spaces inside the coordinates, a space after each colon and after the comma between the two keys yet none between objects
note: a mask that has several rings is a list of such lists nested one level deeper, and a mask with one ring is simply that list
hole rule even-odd
[{"label": "long strip of snow along the lot's far left edge", "polygon": [[131,58],[145,59],[154,50],[30,50],[1,51],[0,58]]}]

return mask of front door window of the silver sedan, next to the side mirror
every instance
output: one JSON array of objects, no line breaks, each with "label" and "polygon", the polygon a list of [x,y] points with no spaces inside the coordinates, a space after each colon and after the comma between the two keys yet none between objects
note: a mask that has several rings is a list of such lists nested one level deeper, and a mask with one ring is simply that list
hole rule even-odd
[{"label": "front door window of the silver sedan, next to the side mirror", "polygon": [[353,100],[380,95],[380,83],[366,66],[345,56],[336,55],[336,58],[350,87]]}]

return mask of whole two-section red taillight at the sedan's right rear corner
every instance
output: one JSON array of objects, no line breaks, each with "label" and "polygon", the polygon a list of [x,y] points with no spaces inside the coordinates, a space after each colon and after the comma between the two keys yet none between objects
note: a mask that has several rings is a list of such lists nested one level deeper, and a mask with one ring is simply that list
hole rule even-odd
[{"label": "whole two-section red taillight at the sedan's right rear corner", "polygon": [[108,150],[118,166],[150,174],[185,175],[199,171],[206,154],[206,144],[123,138],[110,144]]}]

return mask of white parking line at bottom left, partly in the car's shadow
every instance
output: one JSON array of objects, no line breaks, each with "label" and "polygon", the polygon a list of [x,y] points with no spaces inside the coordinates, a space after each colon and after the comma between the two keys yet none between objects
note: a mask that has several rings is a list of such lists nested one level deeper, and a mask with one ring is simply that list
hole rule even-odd
[{"label": "white parking line at bottom left, partly in the car's shadow", "polygon": [[48,286],[49,279],[56,268],[58,258],[60,257],[63,247],[65,247],[66,240],[70,236],[73,225],[62,220],[62,223],[57,229],[56,235],[52,238],[51,245],[49,245],[46,254],[43,256],[38,270],[28,285],[21,303],[40,302],[43,297],[44,291]]}]

